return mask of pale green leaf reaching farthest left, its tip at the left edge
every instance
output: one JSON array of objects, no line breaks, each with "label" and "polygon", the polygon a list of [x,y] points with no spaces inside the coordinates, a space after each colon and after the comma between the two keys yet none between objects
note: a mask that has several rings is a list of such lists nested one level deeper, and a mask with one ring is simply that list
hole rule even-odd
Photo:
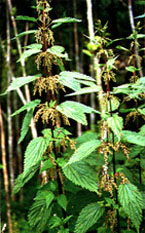
[{"label": "pale green leaf reaching farthest left, its tip at the left edge", "polygon": [[41,74],[37,74],[34,76],[27,76],[27,77],[20,77],[20,78],[15,78],[13,81],[10,83],[8,89],[2,93],[1,95],[6,95],[10,91],[17,90],[18,88],[24,86],[25,84],[28,84],[30,82],[33,82],[36,80],[38,77],[41,77]]}]

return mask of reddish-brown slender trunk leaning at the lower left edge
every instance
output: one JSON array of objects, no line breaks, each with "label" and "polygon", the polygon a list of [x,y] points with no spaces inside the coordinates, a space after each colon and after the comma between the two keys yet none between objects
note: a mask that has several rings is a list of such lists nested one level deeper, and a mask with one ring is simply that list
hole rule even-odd
[{"label": "reddish-brown slender trunk leaning at the lower left edge", "polygon": [[6,160],[6,142],[5,142],[5,133],[4,133],[4,125],[3,125],[3,119],[2,119],[1,105],[0,105],[0,132],[1,132],[2,164],[3,164],[4,188],[5,188],[5,194],[6,194],[8,227],[9,227],[9,233],[13,233],[12,221],[11,221],[11,206],[10,206],[10,199],[9,199],[9,178],[8,178],[7,160]]}]

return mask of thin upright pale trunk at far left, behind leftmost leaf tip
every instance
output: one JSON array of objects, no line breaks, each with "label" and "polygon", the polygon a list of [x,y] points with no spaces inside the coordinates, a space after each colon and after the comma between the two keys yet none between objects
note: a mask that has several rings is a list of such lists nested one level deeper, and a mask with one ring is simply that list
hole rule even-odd
[{"label": "thin upright pale trunk at far left, behind leftmost leaf tip", "polygon": [[[6,8],[6,18],[7,18],[7,80],[8,83],[11,82],[11,40],[10,40],[10,21],[8,8]],[[14,168],[13,168],[13,129],[12,129],[12,118],[11,118],[11,93],[7,95],[7,114],[8,114],[8,155],[9,155],[9,171],[10,171],[10,185],[11,185],[11,198],[14,200],[13,189],[14,189]]]}]

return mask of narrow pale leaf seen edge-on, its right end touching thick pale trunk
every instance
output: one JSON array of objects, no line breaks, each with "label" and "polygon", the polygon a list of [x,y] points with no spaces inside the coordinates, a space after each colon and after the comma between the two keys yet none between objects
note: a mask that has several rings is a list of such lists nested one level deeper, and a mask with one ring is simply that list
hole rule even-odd
[{"label": "narrow pale leaf seen edge-on, its right end touching thick pale trunk", "polygon": [[98,92],[100,91],[100,87],[95,85],[93,87],[84,87],[84,88],[81,88],[80,90],[74,92],[74,93],[71,93],[71,94],[67,94],[65,96],[74,96],[74,95],[83,95],[83,94],[89,94],[89,93],[94,93],[94,92]]}]

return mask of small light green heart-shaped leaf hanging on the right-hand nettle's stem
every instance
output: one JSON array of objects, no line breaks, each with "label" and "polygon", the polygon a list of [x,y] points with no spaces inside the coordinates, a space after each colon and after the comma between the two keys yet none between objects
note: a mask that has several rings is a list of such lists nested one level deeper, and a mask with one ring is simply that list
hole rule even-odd
[{"label": "small light green heart-shaped leaf hanging on the right-hand nettle's stem", "polygon": [[107,119],[107,123],[113,133],[117,136],[118,140],[120,141],[122,128],[123,128],[123,118],[119,117],[117,114],[113,114],[112,117]]}]

